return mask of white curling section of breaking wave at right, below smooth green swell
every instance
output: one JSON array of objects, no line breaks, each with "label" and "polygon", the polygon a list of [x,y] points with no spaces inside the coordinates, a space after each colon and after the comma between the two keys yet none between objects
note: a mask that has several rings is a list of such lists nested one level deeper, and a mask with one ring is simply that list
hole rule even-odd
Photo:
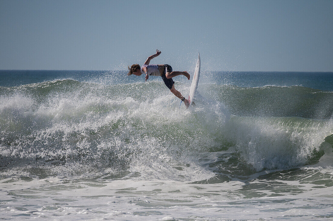
[{"label": "white curling section of breaking wave at right, below smooth green swell", "polygon": [[261,171],[308,163],[332,134],[332,125],[297,117],[233,117],[226,133],[234,139],[240,158]]}]

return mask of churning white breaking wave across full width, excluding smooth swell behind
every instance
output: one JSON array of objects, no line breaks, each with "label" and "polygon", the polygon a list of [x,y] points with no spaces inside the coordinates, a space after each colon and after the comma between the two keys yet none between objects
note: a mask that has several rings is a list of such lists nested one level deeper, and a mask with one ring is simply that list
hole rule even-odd
[{"label": "churning white breaking wave across full width, excluding smooth swell behind", "polygon": [[332,134],[325,120],[231,116],[221,101],[200,94],[197,107],[179,109],[159,82],[58,80],[9,90],[15,92],[1,95],[3,165],[25,159],[30,165],[129,170],[134,162],[138,169],[155,159],[159,167],[185,168],[200,165],[195,156],[208,150],[236,147],[240,160],[260,171],[306,164]]}]

